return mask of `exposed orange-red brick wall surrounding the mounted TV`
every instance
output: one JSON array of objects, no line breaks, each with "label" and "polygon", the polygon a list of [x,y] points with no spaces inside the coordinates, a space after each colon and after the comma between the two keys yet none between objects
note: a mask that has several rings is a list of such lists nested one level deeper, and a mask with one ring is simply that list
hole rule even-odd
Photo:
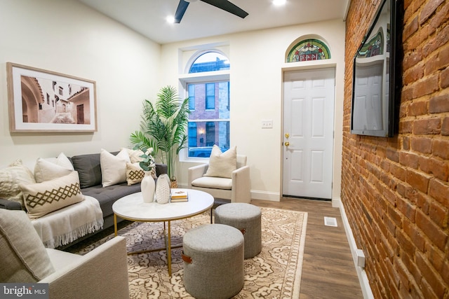
[{"label": "exposed orange-red brick wall surrounding the mounted TV", "polygon": [[404,0],[399,133],[350,134],[353,57],[378,0],[347,16],[342,202],[375,298],[449,298],[449,1]]}]

